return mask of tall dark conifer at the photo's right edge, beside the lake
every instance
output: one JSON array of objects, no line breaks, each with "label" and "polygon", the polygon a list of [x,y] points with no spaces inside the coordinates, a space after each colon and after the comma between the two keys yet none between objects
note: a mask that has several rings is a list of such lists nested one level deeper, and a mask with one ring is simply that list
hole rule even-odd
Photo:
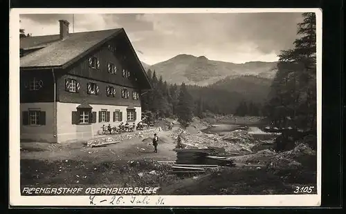
[{"label": "tall dark conifer at the photo's right edge, beside the lake", "polygon": [[316,16],[307,12],[298,23],[294,48],[279,55],[268,102],[277,126],[316,129]]}]

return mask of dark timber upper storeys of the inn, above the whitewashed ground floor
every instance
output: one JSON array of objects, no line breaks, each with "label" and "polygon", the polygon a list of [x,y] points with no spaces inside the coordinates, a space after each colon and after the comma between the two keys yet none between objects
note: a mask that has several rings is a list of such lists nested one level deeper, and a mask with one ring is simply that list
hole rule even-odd
[{"label": "dark timber upper storeys of the inn, above the whitewashed ground floor", "polygon": [[[128,57],[124,61],[120,50],[112,50],[115,43],[104,44],[100,49],[95,50],[91,55],[80,59],[77,63],[61,70],[22,70],[21,80],[21,103],[51,102],[54,100],[54,77],[57,84],[56,101],[67,103],[107,104],[118,106],[140,106],[140,97],[133,99],[134,94],[140,95],[140,83],[136,63]],[[111,50],[110,50],[111,49]],[[98,61],[98,67],[89,64],[91,58]],[[113,65],[113,70],[109,70],[109,65]],[[124,72],[125,71],[125,72]],[[54,72],[54,77],[53,77]],[[66,79],[73,79],[80,88],[77,93],[66,90]],[[30,84],[38,82],[39,88],[30,88]],[[87,93],[87,84],[94,83],[98,86],[98,95]],[[107,96],[107,86],[115,89],[114,97]],[[123,98],[121,90],[126,89],[129,97]]]}]

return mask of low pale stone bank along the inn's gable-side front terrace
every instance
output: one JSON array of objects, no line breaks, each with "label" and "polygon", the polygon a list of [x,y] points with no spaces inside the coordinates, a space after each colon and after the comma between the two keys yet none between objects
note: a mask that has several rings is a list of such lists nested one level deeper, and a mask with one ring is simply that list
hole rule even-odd
[{"label": "low pale stone bank along the inn's gable-side front terrace", "polygon": [[93,139],[89,139],[88,142],[86,142],[86,146],[93,146],[98,144],[104,144],[104,143],[112,143],[112,142],[122,142],[127,139],[132,138],[146,138],[146,137],[153,137],[154,133],[160,133],[161,127],[154,127],[150,128],[149,130],[136,130],[133,133],[121,133],[118,135],[102,135],[101,137],[96,137]]}]

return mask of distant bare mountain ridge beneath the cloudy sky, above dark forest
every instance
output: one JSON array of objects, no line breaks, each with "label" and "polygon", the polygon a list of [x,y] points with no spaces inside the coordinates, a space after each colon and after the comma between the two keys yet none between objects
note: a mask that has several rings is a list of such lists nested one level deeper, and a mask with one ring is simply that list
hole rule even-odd
[{"label": "distant bare mountain ridge beneath the cloudy sky, above dark forest", "polygon": [[273,79],[277,61],[248,61],[243,64],[235,64],[228,61],[210,60],[206,56],[181,54],[149,66],[143,63],[143,67],[155,70],[170,84],[208,86],[215,82],[228,78],[253,75]]}]

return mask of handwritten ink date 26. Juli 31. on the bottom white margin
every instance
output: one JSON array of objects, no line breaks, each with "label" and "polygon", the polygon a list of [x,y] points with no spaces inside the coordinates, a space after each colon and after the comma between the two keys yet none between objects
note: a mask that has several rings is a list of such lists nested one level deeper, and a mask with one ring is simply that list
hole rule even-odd
[{"label": "handwritten ink date 26. Juli 31. on the bottom white margin", "polygon": [[90,205],[109,205],[109,206],[125,206],[125,205],[164,205],[164,198],[160,196],[118,196],[113,195],[109,198],[91,195],[89,196]]}]

